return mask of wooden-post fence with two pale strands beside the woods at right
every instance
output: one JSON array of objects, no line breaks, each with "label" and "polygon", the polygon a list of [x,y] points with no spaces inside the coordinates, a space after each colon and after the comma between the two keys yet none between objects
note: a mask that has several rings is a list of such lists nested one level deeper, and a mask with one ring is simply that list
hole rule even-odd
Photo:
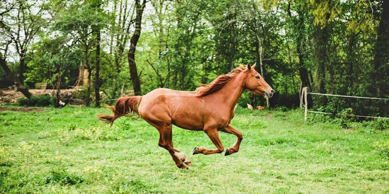
[{"label": "wooden-post fence with two pale strands beside the woods at right", "polygon": [[[378,100],[389,100],[389,98],[379,98],[379,97],[356,97],[356,96],[345,96],[345,95],[334,95],[334,94],[320,94],[308,92],[308,87],[303,87],[300,96],[300,112],[302,110],[303,101],[304,101],[304,120],[306,121],[308,118],[308,113],[319,113],[319,114],[332,114],[338,115],[338,113],[325,113],[319,111],[308,111],[308,94],[311,95],[321,95],[321,96],[332,96],[332,97],[351,97],[351,98],[364,98],[364,99],[378,99]],[[344,115],[344,114],[343,114]],[[354,115],[347,114],[347,116],[356,116],[356,117],[364,117],[364,118],[378,118],[378,119],[389,119],[389,117],[380,117],[380,116],[365,116],[365,115]]]}]

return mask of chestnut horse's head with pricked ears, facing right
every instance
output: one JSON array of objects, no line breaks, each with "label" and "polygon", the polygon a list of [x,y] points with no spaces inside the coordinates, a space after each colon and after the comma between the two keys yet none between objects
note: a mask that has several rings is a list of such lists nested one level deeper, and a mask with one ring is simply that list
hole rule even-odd
[{"label": "chestnut horse's head with pricked ears, facing right", "polygon": [[247,65],[247,69],[245,70],[247,73],[245,87],[257,94],[272,97],[274,94],[273,88],[269,86],[269,84],[266,83],[264,78],[255,70],[255,63],[254,65]]}]

